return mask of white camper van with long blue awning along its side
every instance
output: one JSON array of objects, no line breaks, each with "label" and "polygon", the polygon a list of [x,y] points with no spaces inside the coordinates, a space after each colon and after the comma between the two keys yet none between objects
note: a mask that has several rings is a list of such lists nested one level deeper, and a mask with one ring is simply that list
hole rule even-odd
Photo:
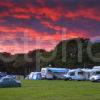
[{"label": "white camper van with long blue awning along its side", "polygon": [[41,76],[43,79],[63,79],[63,75],[68,72],[66,68],[42,68]]}]

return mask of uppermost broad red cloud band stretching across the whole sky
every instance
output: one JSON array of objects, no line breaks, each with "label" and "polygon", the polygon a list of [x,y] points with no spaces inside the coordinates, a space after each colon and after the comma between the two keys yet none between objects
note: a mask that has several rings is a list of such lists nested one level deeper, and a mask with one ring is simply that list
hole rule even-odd
[{"label": "uppermost broad red cloud band stretching across the whole sky", "polygon": [[[41,3],[43,1],[38,0],[37,2]],[[71,19],[84,17],[84,18],[100,21],[100,13],[98,9],[95,8],[85,8],[79,6],[79,9],[72,11],[67,9],[64,10],[63,6],[59,8],[50,8],[47,6],[34,7],[31,4],[26,4],[26,6],[22,8],[11,2],[7,2],[7,3],[0,2],[0,6],[8,7],[8,12],[2,12],[0,14],[0,17],[12,16],[18,19],[29,19],[30,16],[34,16],[38,19],[47,18],[47,19],[51,19],[52,21],[58,21],[61,17],[67,17]]]}]

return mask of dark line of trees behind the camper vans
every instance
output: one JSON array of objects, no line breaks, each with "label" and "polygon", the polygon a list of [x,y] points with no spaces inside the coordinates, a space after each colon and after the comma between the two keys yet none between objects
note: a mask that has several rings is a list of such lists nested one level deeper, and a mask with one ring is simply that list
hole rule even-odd
[{"label": "dark line of trees behind the camper vans", "polygon": [[[90,48],[89,48],[90,47]],[[89,54],[91,50],[92,58]],[[100,42],[77,38],[63,40],[50,52],[36,49],[28,53],[0,53],[0,71],[11,74],[27,75],[31,71],[40,71],[42,67],[92,68],[100,65]]]}]

